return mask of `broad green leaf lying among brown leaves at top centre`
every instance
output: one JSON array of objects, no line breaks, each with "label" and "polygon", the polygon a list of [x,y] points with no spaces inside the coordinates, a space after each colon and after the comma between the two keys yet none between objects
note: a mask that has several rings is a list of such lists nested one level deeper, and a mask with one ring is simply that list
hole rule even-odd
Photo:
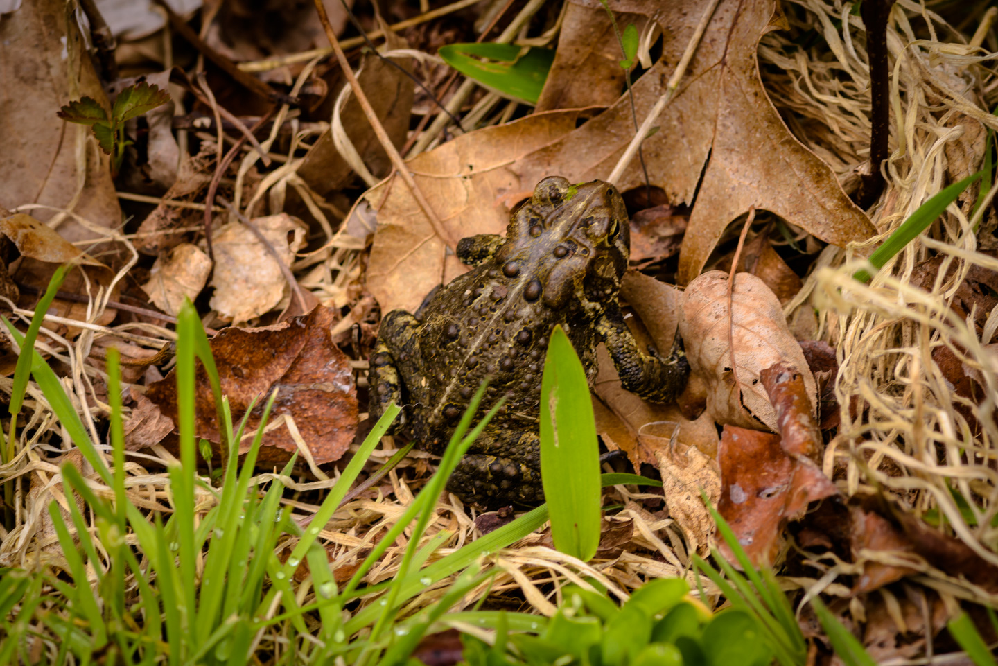
[{"label": "broad green leaf lying among brown leaves at top centre", "polygon": [[[494,43],[448,44],[440,47],[439,53],[461,74],[503,97],[527,104],[537,104],[555,58],[552,49],[532,46],[523,53],[523,47]],[[472,56],[498,62],[483,62]]]}]

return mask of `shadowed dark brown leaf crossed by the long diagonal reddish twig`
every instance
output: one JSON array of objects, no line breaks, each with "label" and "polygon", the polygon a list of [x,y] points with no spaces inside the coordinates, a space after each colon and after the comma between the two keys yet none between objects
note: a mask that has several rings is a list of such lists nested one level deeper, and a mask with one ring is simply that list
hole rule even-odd
[{"label": "shadowed dark brown leaf crossed by the long diagonal reddish twig", "polygon": [[[405,48],[404,41],[398,47]],[[398,64],[406,70],[412,70],[409,58],[398,59]],[[401,147],[409,131],[412,111],[414,94],[411,79],[376,55],[369,54],[364,57],[357,80],[391,143],[396,148]],[[343,85],[345,82],[340,81],[340,86]],[[364,116],[355,95],[350,94],[343,104],[340,122],[371,174],[378,178],[387,175],[391,170],[391,162],[371,131],[370,122]],[[330,132],[323,132],[318,138],[297,174],[322,197],[348,185],[355,178],[353,169],[336,150]]]}]

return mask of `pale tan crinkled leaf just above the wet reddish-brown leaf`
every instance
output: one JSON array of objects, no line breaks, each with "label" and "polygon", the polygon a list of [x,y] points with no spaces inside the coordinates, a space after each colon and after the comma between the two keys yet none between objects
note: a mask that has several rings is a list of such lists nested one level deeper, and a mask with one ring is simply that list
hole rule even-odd
[{"label": "pale tan crinkled leaf just above the wet reddish-brown leaf", "polygon": [[[280,262],[290,266],[294,253],[305,245],[308,228],[286,213],[250,221],[276,251]],[[290,288],[276,260],[242,222],[219,230],[213,240],[215,295],[209,305],[223,319],[248,322],[268,313],[289,293]]]}]

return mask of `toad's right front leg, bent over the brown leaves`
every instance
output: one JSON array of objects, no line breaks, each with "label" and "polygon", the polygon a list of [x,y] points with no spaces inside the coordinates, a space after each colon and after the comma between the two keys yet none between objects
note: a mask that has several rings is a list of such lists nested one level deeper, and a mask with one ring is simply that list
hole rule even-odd
[{"label": "toad's right front leg, bent over the brown leaves", "polygon": [[643,353],[616,305],[607,307],[597,330],[625,388],[654,402],[671,402],[683,392],[690,375],[690,362],[678,337],[669,358]]}]

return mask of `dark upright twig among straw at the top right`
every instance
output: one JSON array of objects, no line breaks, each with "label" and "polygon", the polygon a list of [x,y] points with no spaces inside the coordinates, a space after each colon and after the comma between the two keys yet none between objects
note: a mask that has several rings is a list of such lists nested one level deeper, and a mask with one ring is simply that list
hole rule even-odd
[{"label": "dark upright twig among straw at the top right", "polygon": [[[865,0],[859,7],[866,26],[866,56],[870,69],[870,159],[859,175],[856,203],[868,209],[883,192],[880,165],[887,159],[890,138],[890,94],[887,80],[887,19],[894,0]],[[844,27],[848,29],[848,26]]]}]

